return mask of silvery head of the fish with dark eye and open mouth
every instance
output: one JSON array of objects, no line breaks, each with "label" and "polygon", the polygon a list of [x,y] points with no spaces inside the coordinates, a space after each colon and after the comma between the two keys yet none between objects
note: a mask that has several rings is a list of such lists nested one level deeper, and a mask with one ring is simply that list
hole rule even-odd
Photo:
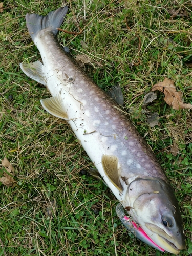
[{"label": "silvery head of the fish with dark eye and open mouth", "polygon": [[182,218],[173,189],[162,179],[136,179],[129,185],[132,217],[159,247],[185,249]]}]

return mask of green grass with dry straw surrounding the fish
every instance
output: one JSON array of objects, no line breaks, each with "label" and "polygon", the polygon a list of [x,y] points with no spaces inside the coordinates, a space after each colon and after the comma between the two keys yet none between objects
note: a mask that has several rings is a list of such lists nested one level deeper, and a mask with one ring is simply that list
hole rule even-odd
[{"label": "green grass with dry straw surrounding the fish", "polygon": [[[49,97],[47,89],[19,68],[25,59],[40,59],[27,31],[26,13],[47,15],[60,6],[61,1],[7,0],[0,14],[0,158],[12,163],[16,184],[0,185],[0,255],[159,256],[159,251],[123,228],[115,213],[115,197],[88,175],[93,164],[68,124],[42,109],[39,100]],[[179,8],[178,15],[170,15]],[[58,34],[59,42],[74,57],[87,54],[95,61],[94,67],[85,69],[101,88],[120,84],[124,110],[154,150],[175,190],[189,253],[191,111],[173,110],[161,93],[144,111],[142,100],[153,84],[168,77],[183,92],[184,102],[192,103],[191,68],[187,65],[192,60],[191,15],[190,1],[106,0],[104,5],[102,1],[75,0],[62,28],[78,32],[75,16],[86,29],[78,36]],[[132,65],[139,59],[138,66]],[[160,121],[150,128],[147,117],[154,112]],[[174,143],[179,151],[176,156],[170,151]],[[3,168],[0,172],[3,174]]]}]

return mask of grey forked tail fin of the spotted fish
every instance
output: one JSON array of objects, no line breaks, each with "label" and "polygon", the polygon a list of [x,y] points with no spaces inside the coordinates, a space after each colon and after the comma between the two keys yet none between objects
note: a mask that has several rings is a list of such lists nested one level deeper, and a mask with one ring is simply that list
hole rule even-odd
[{"label": "grey forked tail fin of the spotted fish", "polygon": [[65,6],[48,13],[47,16],[40,16],[38,14],[27,13],[27,28],[29,30],[33,42],[38,32],[46,28],[49,28],[50,31],[54,35],[56,35],[58,32],[57,27],[60,27],[60,25],[62,24],[67,11],[68,7]]}]

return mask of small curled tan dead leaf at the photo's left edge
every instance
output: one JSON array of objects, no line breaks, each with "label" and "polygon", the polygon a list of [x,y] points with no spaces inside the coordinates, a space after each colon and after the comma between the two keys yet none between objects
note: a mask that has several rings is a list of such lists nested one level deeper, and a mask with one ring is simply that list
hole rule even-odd
[{"label": "small curled tan dead leaf at the photo's left edge", "polygon": [[0,179],[0,181],[6,185],[7,187],[11,186],[14,182],[14,179],[12,176],[14,176],[14,168],[12,164],[9,162],[9,160],[5,157],[2,160],[2,165],[6,169],[7,172],[4,172],[4,177]]}]

